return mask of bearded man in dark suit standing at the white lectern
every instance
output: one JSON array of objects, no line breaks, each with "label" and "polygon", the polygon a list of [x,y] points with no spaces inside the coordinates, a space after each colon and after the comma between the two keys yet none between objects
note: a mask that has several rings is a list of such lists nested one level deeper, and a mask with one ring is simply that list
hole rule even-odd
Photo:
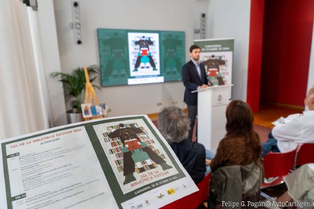
[{"label": "bearded man in dark suit standing at the white lectern", "polygon": [[197,93],[191,93],[198,89],[208,87],[208,79],[205,67],[200,63],[201,48],[197,45],[190,47],[191,60],[183,65],[182,80],[185,86],[184,102],[187,104],[188,119],[190,121],[190,129],[187,139],[192,140],[192,131],[197,116]]}]

